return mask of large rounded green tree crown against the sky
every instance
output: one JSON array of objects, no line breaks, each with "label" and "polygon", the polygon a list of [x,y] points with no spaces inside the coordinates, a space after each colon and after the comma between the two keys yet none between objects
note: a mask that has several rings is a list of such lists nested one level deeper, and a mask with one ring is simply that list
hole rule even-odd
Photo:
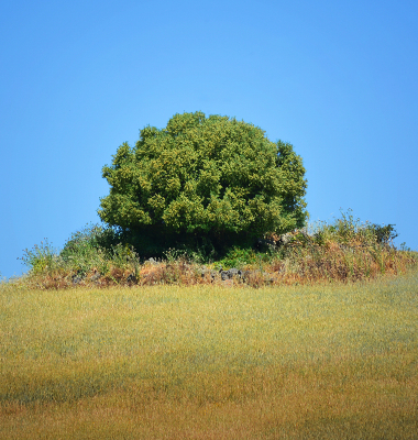
[{"label": "large rounded green tree crown against the sky", "polygon": [[[145,127],[105,166],[109,226],[147,237],[251,240],[304,226],[306,184],[293,146],[253,124],[202,112]],[[233,240],[232,240],[233,241]]]}]

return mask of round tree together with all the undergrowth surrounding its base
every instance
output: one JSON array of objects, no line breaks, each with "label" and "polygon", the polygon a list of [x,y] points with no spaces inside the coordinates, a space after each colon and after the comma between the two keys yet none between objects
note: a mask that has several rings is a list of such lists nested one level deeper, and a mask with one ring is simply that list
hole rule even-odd
[{"label": "round tree together with all the undergrowth surrounding its base", "polygon": [[25,250],[25,282],[40,288],[354,282],[398,274],[417,253],[396,249],[394,224],[342,212],[307,227],[307,180],[293,146],[253,124],[202,112],[145,127],[105,166],[102,224],[57,252]]}]

